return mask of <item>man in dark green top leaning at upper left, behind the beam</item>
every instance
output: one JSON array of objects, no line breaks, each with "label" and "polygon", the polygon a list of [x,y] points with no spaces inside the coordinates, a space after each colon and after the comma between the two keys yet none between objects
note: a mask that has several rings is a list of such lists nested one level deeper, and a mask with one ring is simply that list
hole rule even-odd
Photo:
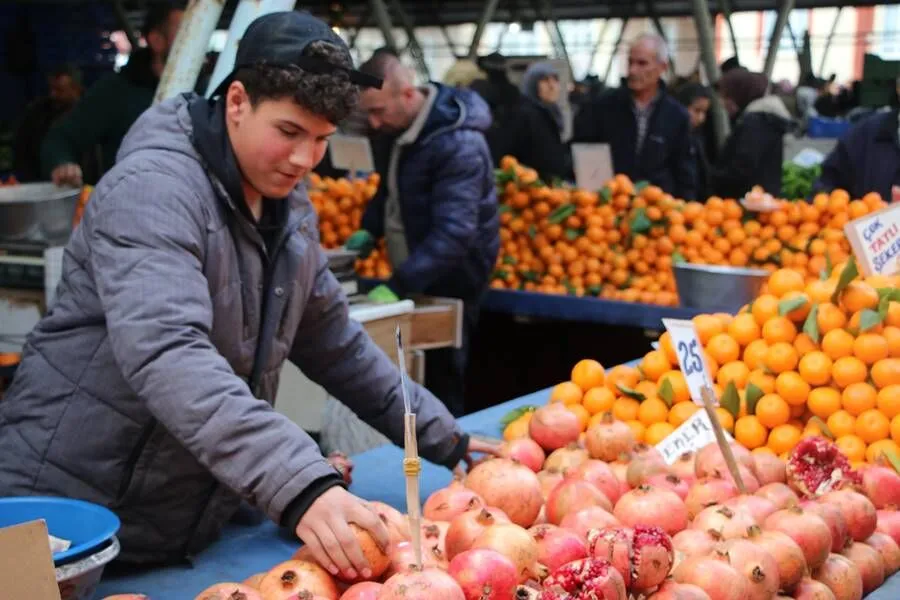
[{"label": "man in dark green top leaning at upper left, behind the beam", "polygon": [[[184,11],[179,4],[150,5],[142,33],[145,48],[133,48],[122,70],[107,75],[60,119],[41,146],[45,177],[59,185],[85,183],[81,157],[100,149],[100,173],[112,168],[122,138],[150,108]],[[96,183],[87,181],[86,183]]]}]

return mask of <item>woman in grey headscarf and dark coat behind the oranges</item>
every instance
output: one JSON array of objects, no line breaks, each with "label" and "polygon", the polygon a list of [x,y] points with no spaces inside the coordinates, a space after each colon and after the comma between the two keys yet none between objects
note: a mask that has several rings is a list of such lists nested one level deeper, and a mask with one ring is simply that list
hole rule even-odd
[{"label": "woman in grey headscarf and dark coat behind the oranges", "polygon": [[511,124],[510,153],[535,169],[546,183],[571,180],[572,153],[562,141],[559,73],[552,63],[533,63],[525,71],[520,89],[524,99]]}]

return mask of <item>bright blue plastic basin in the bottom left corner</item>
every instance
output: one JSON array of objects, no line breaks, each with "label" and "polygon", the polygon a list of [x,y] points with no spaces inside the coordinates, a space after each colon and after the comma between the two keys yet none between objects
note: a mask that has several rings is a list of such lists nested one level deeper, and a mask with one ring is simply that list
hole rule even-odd
[{"label": "bright blue plastic basin in the bottom left corner", "polygon": [[72,542],[65,552],[53,554],[57,566],[100,549],[121,526],[119,517],[111,510],[83,500],[44,496],[0,498],[0,527],[38,519],[47,522],[50,535]]}]

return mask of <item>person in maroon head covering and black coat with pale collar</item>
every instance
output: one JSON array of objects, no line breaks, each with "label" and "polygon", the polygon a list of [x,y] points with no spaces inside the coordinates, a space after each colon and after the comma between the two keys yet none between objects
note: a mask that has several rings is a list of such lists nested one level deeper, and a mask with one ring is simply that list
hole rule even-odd
[{"label": "person in maroon head covering and black coat with pale collar", "polygon": [[719,94],[734,130],[710,172],[713,194],[741,198],[755,185],[781,195],[784,135],[793,127],[791,114],[776,95],[769,95],[762,73],[735,69],[719,80]]}]

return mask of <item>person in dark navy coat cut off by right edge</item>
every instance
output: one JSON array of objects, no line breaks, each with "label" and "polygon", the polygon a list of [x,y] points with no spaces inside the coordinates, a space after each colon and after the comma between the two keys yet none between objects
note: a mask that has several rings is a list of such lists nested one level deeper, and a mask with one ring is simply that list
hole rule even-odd
[{"label": "person in dark navy coat cut off by right edge", "polygon": [[867,117],[851,129],[822,163],[813,192],[847,190],[851,198],[878,192],[891,202],[893,187],[900,186],[898,109]]}]

